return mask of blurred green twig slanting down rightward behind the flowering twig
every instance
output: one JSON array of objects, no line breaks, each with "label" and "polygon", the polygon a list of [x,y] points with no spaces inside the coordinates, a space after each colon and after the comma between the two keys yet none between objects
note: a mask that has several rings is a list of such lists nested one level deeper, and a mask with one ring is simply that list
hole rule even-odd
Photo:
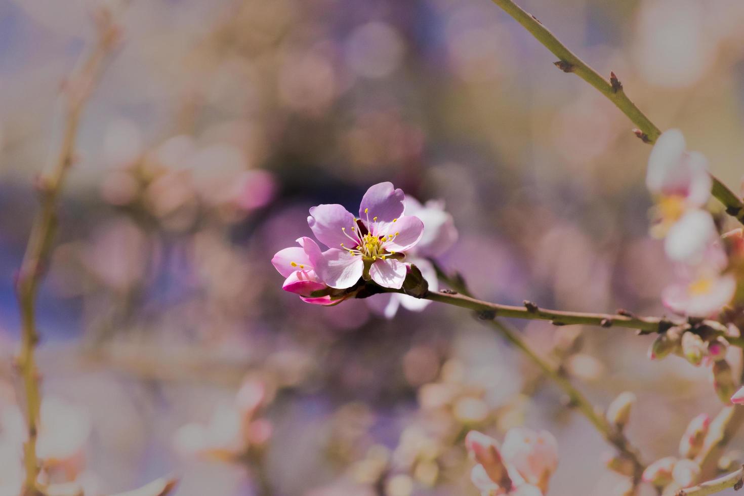
[{"label": "blurred green twig slanting down rightward behind the flowering twig", "polygon": [[[443,271],[440,265],[438,265],[434,261],[432,262],[440,280],[442,280],[448,286],[457,289],[458,292],[463,293],[462,295],[446,293],[442,294],[445,294],[446,296],[464,296],[469,300],[478,301],[474,300],[472,297],[467,296],[469,294],[469,290],[467,289],[467,284],[462,277],[449,277],[448,274]],[[448,302],[445,301],[445,303]],[[513,308],[521,309],[520,307]],[[523,352],[525,356],[527,356],[527,358],[529,358],[530,361],[533,362],[533,364],[536,364],[536,366],[539,367],[540,370],[542,370],[542,373],[544,373],[545,376],[548,376],[550,379],[552,379],[558,385],[558,387],[561,388],[563,393],[565,393],[568,398],[571,399],[571,405],[574,405],[581,413],[583,413],[584,416],[586,416],[587,419],[589,419],[589,422],[594,425],[594,428],[596,428],[597,431],[602,434],[602,437],[604,437],[607,442],[614,445],[615,448],[617,448],[624,457],[631,461],[631,463],[633,464],[633,480],[634,483],[638,483],[641,480],[641,474],[643,474],[645,466],[644,463],[641,462],[641,457],[638,453],[638,450],[630,444],[625,435],[617,428],[610,425],[609,422],[607,422],[607,420],[604,418],[604,416],[601,413],[597,412],[597,409],[594,408],[594,405],[591,405],[589,399],[586,399],[586,396],[584,396],[579,390],[577,390],[577,388],[574,387],[573,384],[571,384],[571,381],[566,379],[566,377],[560,372],[557,367],[553,367],[547,361],[542,359],[536,352],[532,350],[532,348],[529,347],[529,345],[527,345],[527,343],[525,343],[525,341],[522,341],[522,338],[519,337],[519,332],[517,332],[516,329],[514,329],[509,324],[504,323],[503,321],[499,321],[497,318],[495,318],[495,316],[488,315],[488,317],[489,325],[496,329],[496,331],[498,331],[501,335],[503,335],[504,338],[507,339],[507,341],[517,347],[521,352]]]}]

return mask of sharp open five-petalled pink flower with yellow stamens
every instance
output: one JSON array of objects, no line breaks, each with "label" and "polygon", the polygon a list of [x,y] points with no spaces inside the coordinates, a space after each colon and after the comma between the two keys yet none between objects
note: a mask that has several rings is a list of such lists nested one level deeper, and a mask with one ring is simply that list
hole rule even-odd
[{"label": "sharp open five-petalled pink flower with yellow stamens", "polygon": [[420,219],[403,215],[404,198],[403,190],[382,182],[365,193],[359,218],[339,204],[310,209],[310,229],[330,248],[315,265],[324,283],[346,289],[364,277],[385,288],[403,286],[407,268],[400,260],[423,234]]}]

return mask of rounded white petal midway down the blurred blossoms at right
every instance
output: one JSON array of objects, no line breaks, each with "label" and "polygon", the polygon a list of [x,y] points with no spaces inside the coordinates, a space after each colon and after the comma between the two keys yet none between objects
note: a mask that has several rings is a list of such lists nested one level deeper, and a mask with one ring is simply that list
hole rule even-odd
[{"label": "rounded white petal midway down the blurred blossoms at right", "polygon": [[710,213],[689,210],[669,229],[664,240],[664,251],[671,260],[693,262],[702,256],[705,248],[717,236],[718,231]]}]

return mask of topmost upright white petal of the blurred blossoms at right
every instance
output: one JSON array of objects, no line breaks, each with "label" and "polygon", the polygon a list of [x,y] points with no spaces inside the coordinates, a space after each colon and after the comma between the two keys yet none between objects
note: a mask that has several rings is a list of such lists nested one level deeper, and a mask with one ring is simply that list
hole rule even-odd
[{"label": "topmost upright white petal of the blurred blossoms at right", "polygon": [[688,180],[687,168],[682,164],[685,147],[679,129],[670,129],[658,137],[646,171],[646,186],[652,193],[672,194],[685,186]]}]

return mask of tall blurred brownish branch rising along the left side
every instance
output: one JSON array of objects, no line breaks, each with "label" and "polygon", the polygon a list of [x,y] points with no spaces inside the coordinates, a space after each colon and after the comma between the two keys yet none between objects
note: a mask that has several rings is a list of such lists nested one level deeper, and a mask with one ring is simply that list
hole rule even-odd
[{"label": "tall blurred brownish branch rising along the left side", "polygon": [[34,358],[36,343],[39,341],[36,331],[36,293],[48,261],[57,226],[57,197],[64,184],[65,176],[74,162],[80,116],[100,76],[103,60],[118,36],[118,30],[107,11],[102,11],[97,20],[99,33],[96,44],[65,83],[62,144],[51,169],[42,173],[38,179],[41,210],[33,221],[31,236],[28,239],[16,280],[22,323],[21,351],[17,358],[17,366],[25,390],[25,417],[28,425],[28,439],[24,445],[25,495],[35,495],[38,492],[36,477],[39,464],[36,459],[36,436],[41,396]]}]

